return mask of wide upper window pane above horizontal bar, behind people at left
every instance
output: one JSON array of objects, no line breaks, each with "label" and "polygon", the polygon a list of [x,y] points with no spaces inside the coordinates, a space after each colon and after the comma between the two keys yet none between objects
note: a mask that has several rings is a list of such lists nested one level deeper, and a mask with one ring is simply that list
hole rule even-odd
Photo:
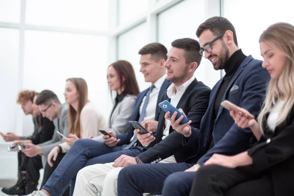
[{"label": "wide upper window pane above horizontal bar, behind people at left", "polygon": [[108,28],[107,0],[26,0],[26,2],[26,24],[91,30]]}]

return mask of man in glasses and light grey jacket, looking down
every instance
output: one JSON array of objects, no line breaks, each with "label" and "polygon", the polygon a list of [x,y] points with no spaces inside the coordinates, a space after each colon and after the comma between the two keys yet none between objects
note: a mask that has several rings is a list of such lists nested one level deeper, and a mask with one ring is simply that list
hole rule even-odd
[{"label": "man in glasses and light grey jacket, looking down", "polygon": [[50,121],[53,121],[55,126],[54,134],[51,140],[44,142],[40,145],[26,144],[25,149],[22,150],[28,157],[42,155],[42,162],[44,168],[44,178],[41,185],[42,188],[42,186],[47,182],[47,180],[49,179],[49,177],[58,165],[54,163],[59,163],[65,155],[63,153],[58,154],[56,160],[52,161],[53,167],[49,167],[49,165],[46,164],[47,156],[51,149],[64,142],[62,140],[62,136],[59,135],[57,131],[59,131],[66,137],[68,136],[68,105],[61,104],[55,93],[49,90],[44,90],[37,96],[36,105],[39,107],[42,116],[48,118]]}]

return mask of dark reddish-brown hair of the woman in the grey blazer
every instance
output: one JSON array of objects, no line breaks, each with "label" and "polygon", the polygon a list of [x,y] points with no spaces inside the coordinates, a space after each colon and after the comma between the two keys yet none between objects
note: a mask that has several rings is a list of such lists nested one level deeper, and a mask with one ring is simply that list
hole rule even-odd
[{"label": "dark reddish-brown hair of the woman in the grey blazer", "polygon": [[[137,96],[140,93],[140,90],[133,66],[128,61],[124,60],[116,61],[110,66],[112,66],[117,72],[119,80],[121,82],[121,88],[124,88],[124,93]],[[108,66],[108,68],[110,66]]]}]

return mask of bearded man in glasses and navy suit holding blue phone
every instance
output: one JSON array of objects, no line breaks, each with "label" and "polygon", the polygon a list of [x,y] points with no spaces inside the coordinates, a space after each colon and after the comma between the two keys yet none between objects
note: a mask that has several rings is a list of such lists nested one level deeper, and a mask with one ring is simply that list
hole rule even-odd
[{"label": "bearded man in glasses and navy suit holding blue phone", "polygon": [[[143,193],[189,195],[196,170],[213,154],[235,155],[250,145],[251,130],[238,127],[229,110],[220,104],[227,99],[256,117],[270,75],[262,68],[262,61],[245,56],[238,48],[235,28],[227,19],[207,19],[198,27],[196,35],[201,47],[199,53],[212,62],[215,70],[224,69],[226,74],[211,90],[200,128],[181,125],[174,115],[169,117],[169,113],[165,116],[171,121],[172,128],[182,134],[182,153],[186,154],[186,159],[182,163],[148,164],[150,160],[139,155],[145,164],[127,166],[119,173],[119,196],[142,196]],[[193,150],[191,155],[189,152]]]}]

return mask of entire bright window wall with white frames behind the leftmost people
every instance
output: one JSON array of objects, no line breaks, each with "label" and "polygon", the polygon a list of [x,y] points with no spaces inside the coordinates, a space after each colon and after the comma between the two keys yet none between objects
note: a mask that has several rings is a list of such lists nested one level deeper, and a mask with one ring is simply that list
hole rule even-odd
[{"label": "entire bright window wall with white frames behind the leftmost people", "polygon": [[[29,135],[31,116],[16,104],[22,89],[50,89],[64,101],[65,79],[83,77],[89,99],[109,113],[108,1],[1,0],[2,131]],[[103,92],[103,93],[101,93]],[[101,108],[100,108],[101,107]],[[110,108],[112,106],[110,105]],[[1,139],[0,139],[1,140]]]}]

